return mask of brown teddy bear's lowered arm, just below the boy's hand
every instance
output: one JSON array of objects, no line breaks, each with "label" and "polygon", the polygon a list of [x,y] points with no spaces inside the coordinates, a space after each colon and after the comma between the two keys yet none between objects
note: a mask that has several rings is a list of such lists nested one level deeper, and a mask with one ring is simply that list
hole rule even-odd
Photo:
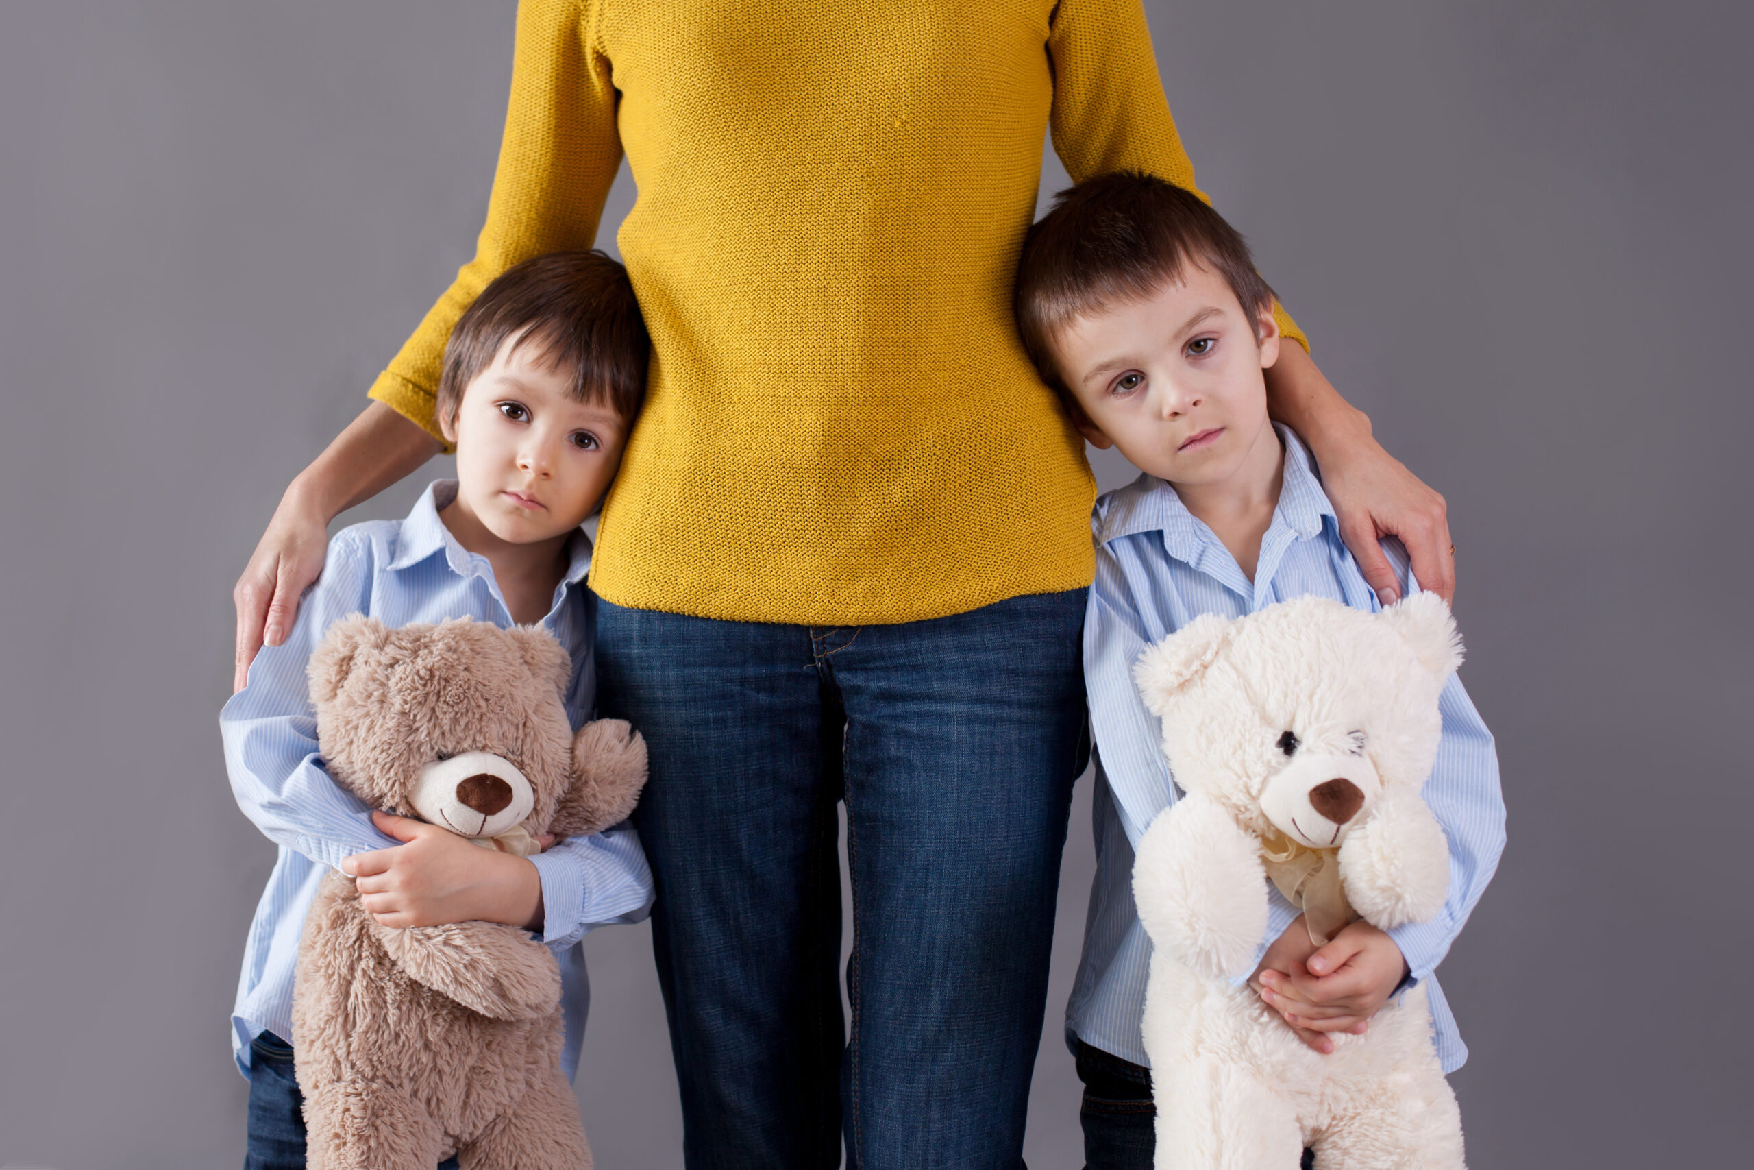
[{"label": "brown teddy bear's lowered arm, just below the boy's hand", "polygon": [[377,938],[414,982],[493,1019],[537,1019],[560,1003],[560,965],[516,926],[377,926]]}]

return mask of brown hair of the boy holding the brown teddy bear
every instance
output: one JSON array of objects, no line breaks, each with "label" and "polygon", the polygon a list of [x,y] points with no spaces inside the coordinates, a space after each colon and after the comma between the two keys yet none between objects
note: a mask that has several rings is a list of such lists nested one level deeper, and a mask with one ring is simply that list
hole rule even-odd
[{"label": "brown hair of the boy holding the brown teddy bear", "polygon": [[607,403],[626,421],[640,412],[651,339],[628,270],[603,253],[537,256],[481,289],[444,347],[438,419],[456,417],[463,389],[512,337],[570,370],[577,402]]}]

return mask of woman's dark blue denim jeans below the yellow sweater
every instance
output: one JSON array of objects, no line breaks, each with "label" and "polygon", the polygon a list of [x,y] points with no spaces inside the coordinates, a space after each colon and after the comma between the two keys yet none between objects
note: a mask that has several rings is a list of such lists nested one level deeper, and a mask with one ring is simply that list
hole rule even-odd
[{"label": "woman's dark blue denim jeans below the yellow sweater", "polygon": [[651,758],[689,1170],[833,1170],[842,1140],[856,1170],[1023,1165],[1082,621],[1082,589],[842,628],[598,605],[598,702]]}]

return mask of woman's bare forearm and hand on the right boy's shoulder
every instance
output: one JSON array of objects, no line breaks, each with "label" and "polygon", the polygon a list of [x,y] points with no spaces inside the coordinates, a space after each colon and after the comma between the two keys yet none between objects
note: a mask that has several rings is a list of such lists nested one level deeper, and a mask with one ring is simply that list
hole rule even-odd
[{"label": "woman's bare forearm and hand on the right boy's shoulder", "polygon": [[1266,402],[1273,417],[1301,435],[1316,454],[1323,488],[1340,517],[1340,539],[1377,600],[1384,605],[1400,600],[1394,567],[1377,544],[1398,537],[1419,586],[1454,602],[1456,546],[1444,496],[1377,444],[1370,419],[1340,396],[1301,346],[1279,347],[1279,361],[1266,372]]}]

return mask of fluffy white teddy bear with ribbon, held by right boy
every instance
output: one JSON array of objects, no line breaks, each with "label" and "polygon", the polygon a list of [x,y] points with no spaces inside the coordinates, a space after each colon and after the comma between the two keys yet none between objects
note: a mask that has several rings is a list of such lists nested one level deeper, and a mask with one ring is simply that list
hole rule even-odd
[{"label": "fluffy white teddy bear with ribbon, held by right boy", "polygon": [[1303,1145],[1321,1170],[1463,1166],[1422,984],[1323,1056],[1230,982],[1254,970],[1268,879],[1312,937],[1442,909],[1449,847],[1419,791],[1459,665],[1433,593],[1380,614],[1328,598],[1209,614],[1135,665],[1186,793],[1133,867],[1152,942],[1144,1042],[1159,1170],[1289,1170]]}]

